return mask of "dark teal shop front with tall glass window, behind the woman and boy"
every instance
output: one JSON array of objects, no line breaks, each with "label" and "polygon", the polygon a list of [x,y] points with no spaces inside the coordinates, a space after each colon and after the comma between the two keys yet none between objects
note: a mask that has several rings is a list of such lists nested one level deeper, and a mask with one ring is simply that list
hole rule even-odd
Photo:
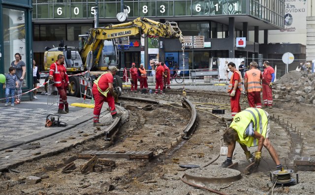
[{"label": "dark teal shop front with tall glass window, behind the woman and boy", "polygon": [[[0,0],[0,74],[7,74],[14,54],[26,63],[23,92],[32,89],[32,0]],[[2,86],[1,86],[2,88]],[[0,99],[4,90],[0,90]],[[32,93],[22,100],[32,99]],[[1,100],[3,102],[4,100]]]}]

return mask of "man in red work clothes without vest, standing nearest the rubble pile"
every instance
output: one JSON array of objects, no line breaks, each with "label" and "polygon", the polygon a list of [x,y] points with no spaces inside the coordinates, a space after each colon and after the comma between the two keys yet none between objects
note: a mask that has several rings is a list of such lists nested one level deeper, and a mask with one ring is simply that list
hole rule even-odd
[{"label": "man in red work clothes without vest, standing nearest the rubble pile", "polygon": [[264,61],[264,72],[262,73],[262,99],[263,108],[272,109],[272,85],[275,81],[275,70],[270,66],[269,61]]}]

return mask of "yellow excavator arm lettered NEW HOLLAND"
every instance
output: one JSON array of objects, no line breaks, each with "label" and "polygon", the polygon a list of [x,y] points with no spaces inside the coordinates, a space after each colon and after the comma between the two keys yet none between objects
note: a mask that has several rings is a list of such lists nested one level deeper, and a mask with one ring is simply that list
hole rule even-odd
[{"label": "yellow excavator arm lettered NEW HOLLAND", "polygon": [[82,50],[81,57],[86,66],[86,59],[90,51],[98,49],[95,63],[98,62],[99,56],[104,46],[104,40],[112,40],[119,37],[145,34],[145,36],[159,36],[170,39],[179,39],[183,43],[182,31],[178,28],[176,22],[160,23],[147,18],[139,17],[131,22],[107,25],[106,27],[91,28],[89,30],[88,40]]}]

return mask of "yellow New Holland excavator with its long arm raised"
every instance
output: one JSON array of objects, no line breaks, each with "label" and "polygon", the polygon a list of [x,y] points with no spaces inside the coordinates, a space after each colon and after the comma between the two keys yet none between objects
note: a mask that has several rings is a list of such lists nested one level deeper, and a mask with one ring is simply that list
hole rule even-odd
[{"label": "yellow New Holland excavator with its long arm raised", "polygon": [[[93,82],[102,71],[106,71],[108,66],[117,66],[118,62],[118,44],[117,39],[126,36],[138,35],[142,37],[159,36],[170,39],[179,39],[183,43],[183,35],[178,28],[176,22],[160,23],[147,18],[139,17],[135,20],[118,25],[107,25],[105,27],[90,28],[87,35],[80,35],[82,48],[74,48],[64,46],[63,43],[57,48],[46,47],[44,54],[44,67],[49,71],[50,64],[54,63],[59,54],[65,56],[65,66],[68,75],[82,73],[86,70],[91,70],[89,79]],[[111,41],[111,42],[109,42]],[[105,43],[104,43],[105,42]],[[105,45],[112,45],[113,57],[106,62],[102,56],[103,47]],[[115,59],[113,59],[115,58]],[[108,57],[107,57],[108,59]],[[122,62],[124,63],[124,62]],[[80,96],[80,76],[71,76],[70,80],[70,96]],[[83,76],[81,76],[83,77]],[[46,78],[48,80],[48,78]],[[114,87],[120,86],[122,88],[122,80],[116,75],[114,78]]]}]

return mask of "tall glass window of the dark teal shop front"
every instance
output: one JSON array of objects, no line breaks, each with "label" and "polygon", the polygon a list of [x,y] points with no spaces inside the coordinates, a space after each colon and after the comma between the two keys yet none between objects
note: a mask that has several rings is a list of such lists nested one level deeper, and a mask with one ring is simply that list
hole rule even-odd
[{"label": "tall glass window of the dark teal shop front", "polygon": [[[25,11],[15,9],[2,9],[2,33],[3,33],[3,68],[9,71],[11,62],[15,60],[14,55],[19,53],[22,61],[27,63],[26,36],[25,36]],[[26,76],[26,75],[25,75]],[[27,78],[25,78],[25,81]],[[25,82],[27,86],[28,82]]]}]

